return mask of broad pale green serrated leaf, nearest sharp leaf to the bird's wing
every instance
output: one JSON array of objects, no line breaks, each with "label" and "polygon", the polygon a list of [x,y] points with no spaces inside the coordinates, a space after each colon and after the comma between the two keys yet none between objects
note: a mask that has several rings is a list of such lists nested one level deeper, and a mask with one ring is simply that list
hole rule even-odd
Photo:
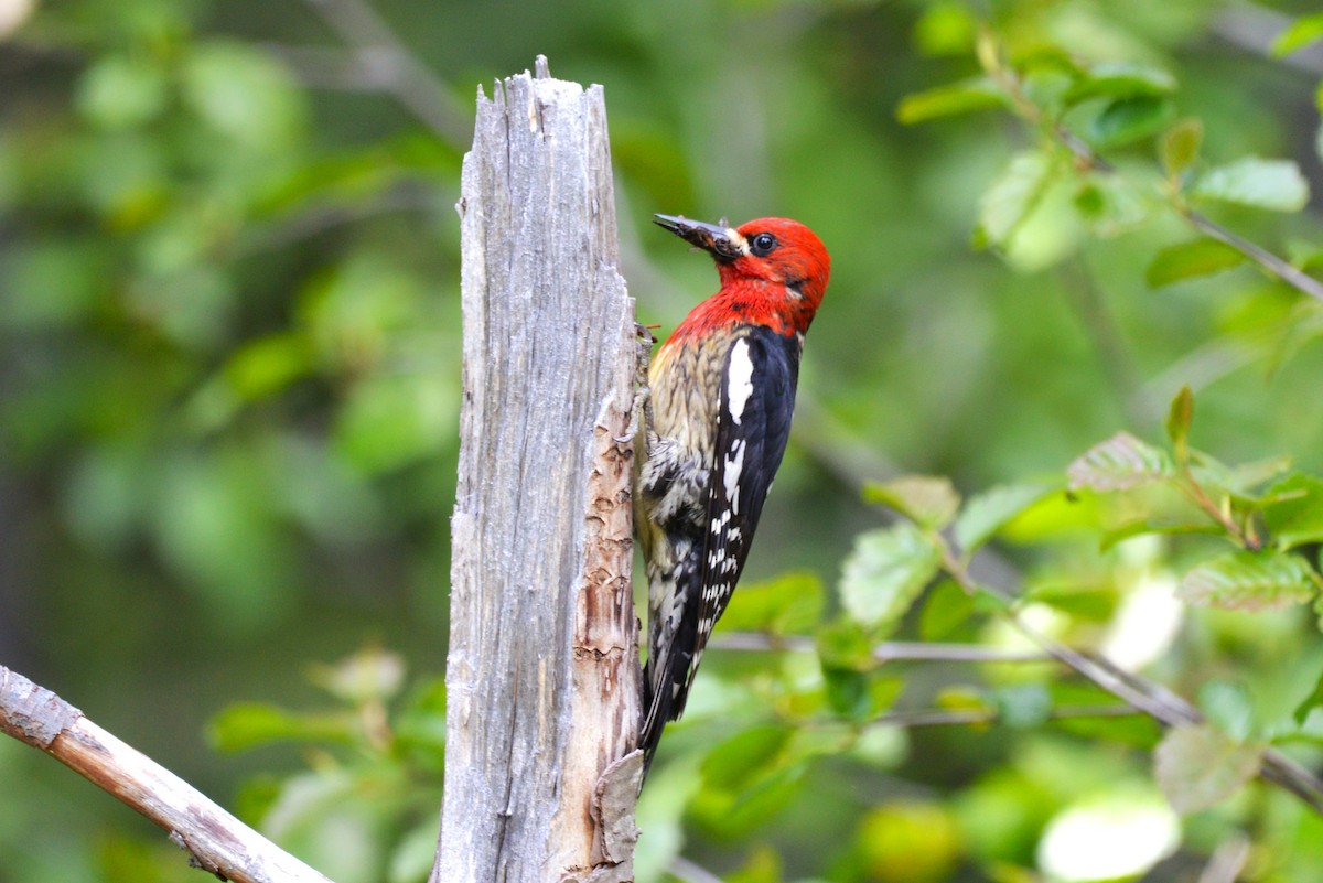
[{"label": "broad pale green serrated leaf, nearest sharp leaf to the bird's wing", "polygon": [[941,563],[938,549],[910,523],[860,534],[843,567],[841,603],[876,637],[886,637]]}]

